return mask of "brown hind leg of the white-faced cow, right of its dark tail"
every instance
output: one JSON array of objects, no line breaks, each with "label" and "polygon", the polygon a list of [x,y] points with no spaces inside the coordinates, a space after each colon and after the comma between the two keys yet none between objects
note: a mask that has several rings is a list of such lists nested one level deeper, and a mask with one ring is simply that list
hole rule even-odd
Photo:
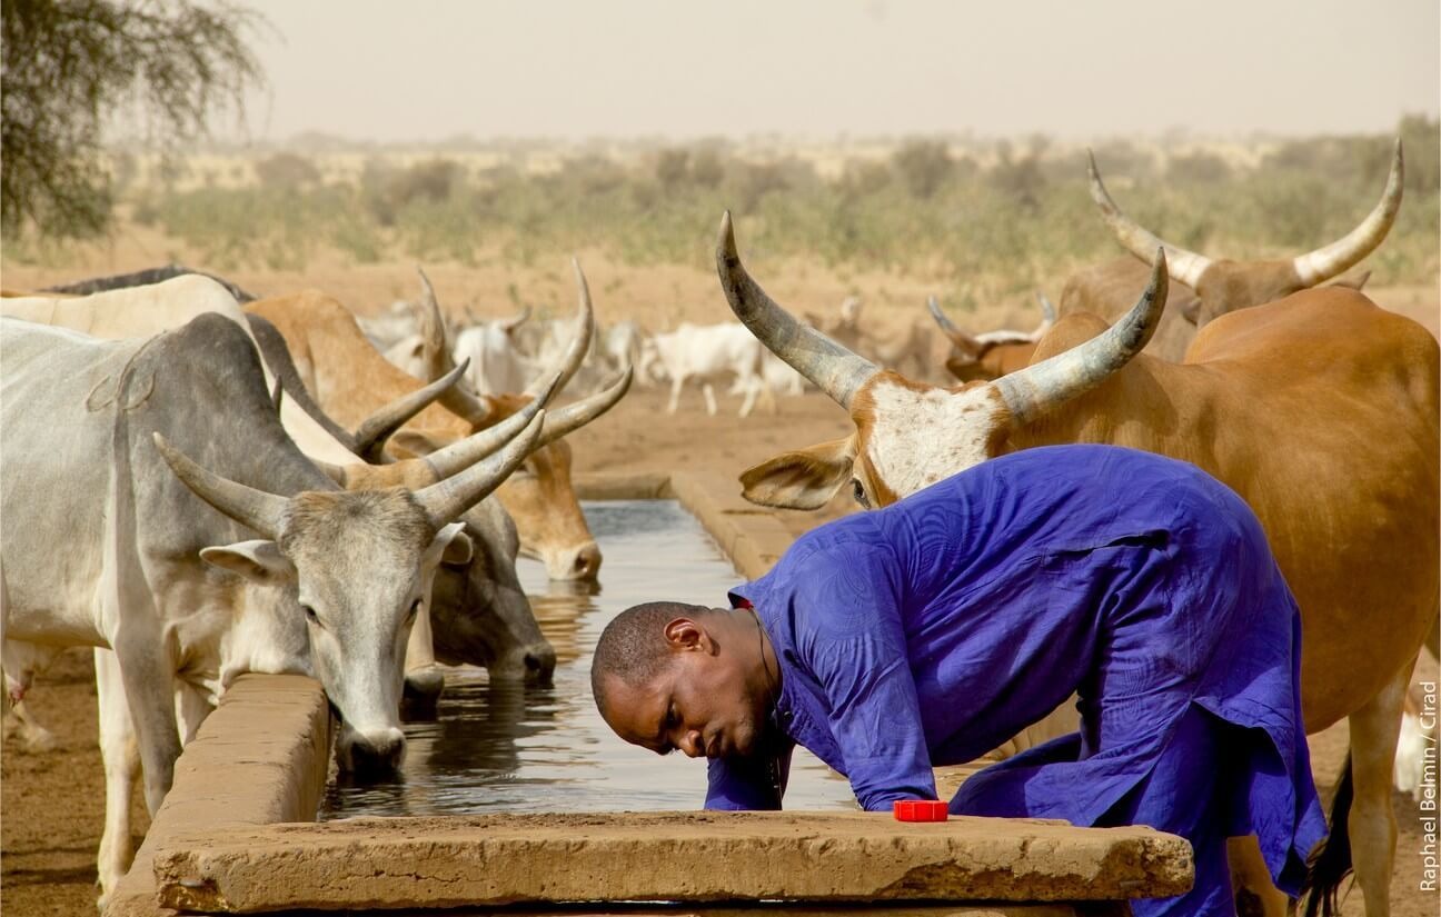
[{"label": "brown hind leg of the white-faced cow, right of its dark tail", "polygon": [[1391,869],[1396,855],[1391,777],[1401,734],[1401,710],[1409,685],[1411,665],[1405,665],[1376,697],[1349,717],[1356,798],[1347,831],[1356,882],[1366,900],[1366,917],[1391,914]]}]

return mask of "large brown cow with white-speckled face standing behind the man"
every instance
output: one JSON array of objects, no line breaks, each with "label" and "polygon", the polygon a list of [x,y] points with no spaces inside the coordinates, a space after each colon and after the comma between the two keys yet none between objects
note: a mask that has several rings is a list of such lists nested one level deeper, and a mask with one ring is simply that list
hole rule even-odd
[{"label": "large brown cow with white-speckled face standing behind the man", "polygon": [[1241,494],[1301,607],[1307,731],[1350,720],[1356,874],[1368,913],[1388,913],[1401,705],[1441,579],[1441,354],[1425,328],[1323,288],[1216,318],[1185,364],[1136,356],[1166,299],[1157,252],[1151,285],[1115,327],[1065,317],[1027,369],[942,389],[797,322],[745,272],[729,214],[716,263],[736,317],[856,425],[746,471],[754,502],[817,508],[849,485],[886,505],[1013,449],[1075,442],[1189,461]]}]

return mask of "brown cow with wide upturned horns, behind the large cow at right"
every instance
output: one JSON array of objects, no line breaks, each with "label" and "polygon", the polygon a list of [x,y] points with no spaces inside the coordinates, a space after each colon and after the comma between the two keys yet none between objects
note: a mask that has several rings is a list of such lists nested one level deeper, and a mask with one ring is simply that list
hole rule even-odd
[{"label": "brown cow with wide upturned horns, behind the large cow at right", "polygon": [[[1146,353],[1180,363],[1186,347],[1196,337],[1196,328],[1205,327],[1218,315],[1324,284],[1370,255],[1396,222],[1405,161],[1401,140],[1396,140],[1386,190],[1370,214],[1344,238],[1314,252],[1280,261],[1210,259],[1163,242],[1121,213],[1101,183],[1094,155],[1089,158],[1089,177],[1091,197],[1101,207],[1111,232],[1144,263],[1121,258],[1076,272],[1061,292],[1061,314],[1092,312],[1107,321],[1118,320],[1131,307],[1136,288],[1146,282],[1156,249],[1164,248],[1172,279],[1170,308],[1161,315]],[[1366,276],[1369,272],[1342,278],[1337,285],[1360,289]]]}]

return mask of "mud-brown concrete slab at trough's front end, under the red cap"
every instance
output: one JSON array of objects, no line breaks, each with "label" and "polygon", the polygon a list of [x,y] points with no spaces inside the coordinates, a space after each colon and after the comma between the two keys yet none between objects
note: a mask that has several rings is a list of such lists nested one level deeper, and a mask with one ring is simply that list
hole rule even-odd
[{"label": "mud-brown concrete slab at trough's front end, under the red cap", "polygon": [[561,901],[1120,901],[1186,891],[1190,845],[1150,828],[886,813],[659,812],[353,819],[173,834],[177,910]]}]

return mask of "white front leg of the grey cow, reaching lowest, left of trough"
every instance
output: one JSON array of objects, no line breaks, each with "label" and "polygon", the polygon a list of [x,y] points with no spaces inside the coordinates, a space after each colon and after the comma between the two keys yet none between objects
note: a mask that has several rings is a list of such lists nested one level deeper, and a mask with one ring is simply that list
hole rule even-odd
[{"label": "white front leg of the grey cow, reaching lowest, left of trough", "polygon": [[95,651],[95,690],[99,701],[99,754],[105,764],[105,831],[99,838],[99,904],[130,869],[135,855],[130,841],[130,798],[140,776],[140,749],[131,728],[130,705],[120,661],[108,649]]}]

